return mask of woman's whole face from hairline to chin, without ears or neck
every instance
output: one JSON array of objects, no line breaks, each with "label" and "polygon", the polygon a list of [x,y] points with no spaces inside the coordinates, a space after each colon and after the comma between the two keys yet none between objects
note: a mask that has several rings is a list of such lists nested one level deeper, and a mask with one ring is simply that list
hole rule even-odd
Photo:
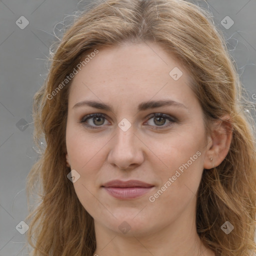
[{"label": "woman's whole face from hairline to chin, without ears or neck", "polygon": [[92,55],[68,98],[66,157],[77,197],[95,230],[142,235],[178,221],[185,228],[195,221],[208,148],[189,73],[152,42]]}]

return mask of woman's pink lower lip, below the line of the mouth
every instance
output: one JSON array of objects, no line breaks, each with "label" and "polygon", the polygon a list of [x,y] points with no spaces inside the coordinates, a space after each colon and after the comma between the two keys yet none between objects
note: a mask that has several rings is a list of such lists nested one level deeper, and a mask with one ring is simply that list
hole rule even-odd
[{"label": "woman's pink lower lip, below the line of the mouth", "polygon": [[152,187],[103,187],[110,195],[118,199],[132,199],[151,190]]}]

